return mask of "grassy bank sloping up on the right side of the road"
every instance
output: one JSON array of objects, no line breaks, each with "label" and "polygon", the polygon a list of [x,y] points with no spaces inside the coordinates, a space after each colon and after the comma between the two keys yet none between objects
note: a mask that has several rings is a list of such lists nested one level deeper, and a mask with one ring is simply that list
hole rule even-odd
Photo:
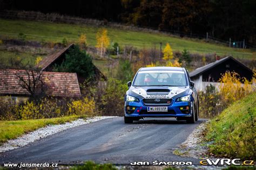
[{"label": "grassy bank sloping up on the right side of the road", "polygon": [[255,160],[256,93],[243,98],[207,125],[210,152],[220,157]]}]

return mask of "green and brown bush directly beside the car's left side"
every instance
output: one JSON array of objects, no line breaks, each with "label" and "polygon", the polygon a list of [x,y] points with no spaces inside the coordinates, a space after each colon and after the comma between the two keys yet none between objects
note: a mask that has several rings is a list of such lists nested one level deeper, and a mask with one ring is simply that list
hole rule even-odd
[{"label": "green and brown bush directly beside the car's left side", "polygon": [[127,89],[126,83],[117,79],[109,79],[105,94],[102,96],[102,115],[124,115],[124,96]]}]

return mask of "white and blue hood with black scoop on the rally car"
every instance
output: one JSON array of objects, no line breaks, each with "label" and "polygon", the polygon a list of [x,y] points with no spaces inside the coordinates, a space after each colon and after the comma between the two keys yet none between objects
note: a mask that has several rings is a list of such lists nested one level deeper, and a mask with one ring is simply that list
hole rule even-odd
[{"label": "white and blue hood with black scoop on the rally car", "polygon": [[127,90],[127,95],[143,98],[178,98],[192,93],[189,86],[170,87],[170,86],[145,86],[133,87]]}]

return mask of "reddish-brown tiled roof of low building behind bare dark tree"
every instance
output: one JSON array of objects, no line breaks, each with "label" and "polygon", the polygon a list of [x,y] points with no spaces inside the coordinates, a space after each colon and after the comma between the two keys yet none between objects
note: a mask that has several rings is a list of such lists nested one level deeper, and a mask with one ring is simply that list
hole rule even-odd
[{"label": "reddish-brown tiled roof of low building behind bare dark tree", "polygon": [[[29,91],[24,87],[29,82],[35,80],[32,73],[38,77],[39,72],[26,71],[22,69],[0,69],[0,95],[30,95]],[[78,97],[80,96],[79,84],[76,73],[57,73],[57,72],[41,72],[41,80],[45,89],[44,93],[49,96],[56,97]],[[21,78],[19,78],[21,77]],[[41,87],[41,82],[37,81],[36,89]]]}]

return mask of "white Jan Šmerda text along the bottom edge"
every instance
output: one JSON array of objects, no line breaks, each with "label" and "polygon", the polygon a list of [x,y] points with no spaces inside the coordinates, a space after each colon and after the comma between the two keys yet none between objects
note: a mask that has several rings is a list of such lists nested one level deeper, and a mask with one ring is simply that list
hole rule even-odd
[{"label": "white Jan \u0160merda text along the bottom edge", "polygon": [[149,161],[134,161],[130,165],[193,165],[191,161],[158,161],[154,160],[153,162]]}]

